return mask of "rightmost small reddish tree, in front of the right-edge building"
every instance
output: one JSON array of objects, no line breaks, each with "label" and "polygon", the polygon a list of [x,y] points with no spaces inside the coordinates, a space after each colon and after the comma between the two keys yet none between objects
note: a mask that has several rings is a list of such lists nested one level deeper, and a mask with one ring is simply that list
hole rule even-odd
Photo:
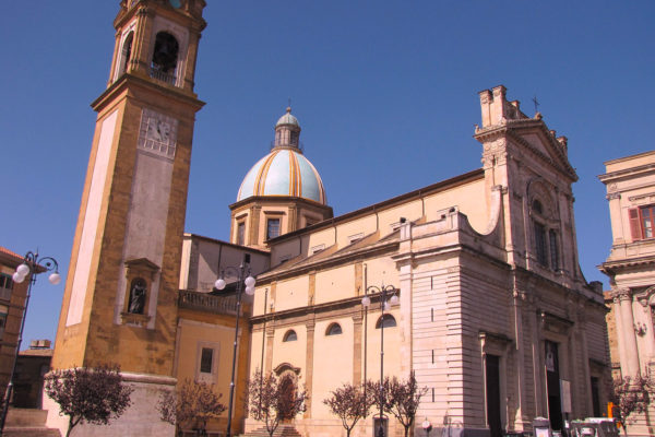
[{"label": "rightmost small reddish tree, in front of the right-edge building", "polygon": [[641,414],[648,408],[651,395],[655,390],[655,381],[643,376],[616,378],[612,381],[612,402],[618,408],[619,421],[623,425],[623,433],[628,435],[629,417]]}]

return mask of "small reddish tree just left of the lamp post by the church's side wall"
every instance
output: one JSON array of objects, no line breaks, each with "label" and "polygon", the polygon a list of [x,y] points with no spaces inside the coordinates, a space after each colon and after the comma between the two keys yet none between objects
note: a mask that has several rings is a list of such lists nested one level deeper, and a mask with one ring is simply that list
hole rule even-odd
[{"label": "small reddish tree just left of the lamp post by the church's side wall", "polygon": [[344,383],[331,393],[331,397],[323,400],[323,403],[330,408],[332,414],[341,418],[342,425],[346,428],[346,436],[350,437],[350,432],[357,422],[368,415],[374,398],[364,387],[356,387],[352,383]]}]

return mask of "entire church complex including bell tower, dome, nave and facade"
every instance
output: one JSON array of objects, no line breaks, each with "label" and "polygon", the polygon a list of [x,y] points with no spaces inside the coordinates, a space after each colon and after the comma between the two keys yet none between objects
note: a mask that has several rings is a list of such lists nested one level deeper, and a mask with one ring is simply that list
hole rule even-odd
[{"label": "entire church complex including bell tower, dome, nave and facade", "polygon": [[[606,309],[577,262],[568,142],[503,86],[479,93],[481,168],[336,217],[288,108],[230,205],[230,241],[183,233],[204,5],[123,0],[115,20],[52,366],[117,363],[135,391],[111,426],[78,434],[172,435],[155,405],[186,379],[227,402],[239,310],[234,432],[262,426],[242,399],[257,369],[307,387],[293,421],[306,436],[342,435],[323,399],[380,374],[414,373],[428,388],[417,422],[453,436],[599,415]],[[240,262],[257,275],[242,306],[234,275],[214,288]],[[382,287],[398,300],[384,317]],[[380,424],[401,433],[371,413],[354,435]]]}]

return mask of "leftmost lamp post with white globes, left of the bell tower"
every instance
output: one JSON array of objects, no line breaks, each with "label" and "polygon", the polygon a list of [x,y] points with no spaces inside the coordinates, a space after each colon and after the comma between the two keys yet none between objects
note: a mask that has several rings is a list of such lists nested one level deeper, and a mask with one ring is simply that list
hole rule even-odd
[{"label": "leftmost lamp post with white globes, left of the bell tower", "polygon": [[27,316],[27,305],[29,304],[29,295],[32,294],[32,287],[36,283],[36,275],[44,272],[52,272],[48,276],[48,281],[52,285],[57,285],[61,282],[61,275],[59,274],[59,263],[55,258],[51,257],[39,257],[38,251],[28,251],[23,257],[23,263],[16,268],[15,273],[12,275],[13,282],[16,284],[25,281],[27,276],[29,284],[27,285],[27,294],[25,296],[25,305],[23,306],[23,317],[21,320],[21,330],[19,331],[19,340],[16,342],[16,352],[13,356],[13,363],[11,365],[11,374],[7,391],[4,393],[4,404],[2,405],[2,415],[0,416],[0,436],[4,433],[4,422],[7,421],[7,413],[9,411],[9,402],[11,401],[11,394],[13,391],[13,378],[16,371],[16,361],[19,358],[19,352],[21,351],[21,343],[23,342],[23,329],[25,328],[25,317]]}]

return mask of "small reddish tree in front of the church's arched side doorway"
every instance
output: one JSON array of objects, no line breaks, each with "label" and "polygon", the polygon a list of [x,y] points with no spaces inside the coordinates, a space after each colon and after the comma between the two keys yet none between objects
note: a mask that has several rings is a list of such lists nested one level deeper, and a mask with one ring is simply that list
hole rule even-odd
[{"label": "small reddish tree in front of the church's arched side doorway", "polygon": [[255,370],[248,381],[249,413],[255,421],[264,422],[269,436],[273,436],[281,421],[291,420],[306,410],[307,392],[300,390],[289,375],[276,377]]}]

